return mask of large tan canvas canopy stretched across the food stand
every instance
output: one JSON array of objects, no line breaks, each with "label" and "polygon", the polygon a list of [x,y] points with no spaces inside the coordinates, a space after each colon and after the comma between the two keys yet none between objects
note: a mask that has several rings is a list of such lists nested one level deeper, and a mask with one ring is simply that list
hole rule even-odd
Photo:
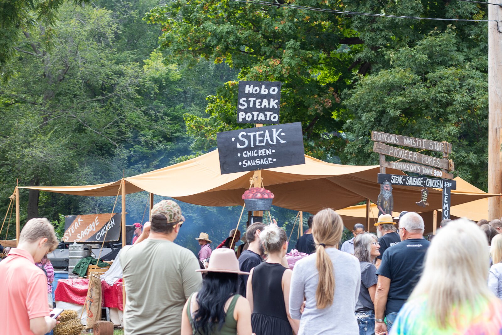
[{"label": "large tan canvas canopy stretched across the food stand", "polygon": [[[264,186],[276,194],[274,205],[316,213],[325,207],[341,209],[366,199],[376,202],[379,166],[340,165],[305,155],[305,164],[262,171]],[[403,174],[387,169],[387,173]],[[221,174],[218,151],[137,176],[124,178],[125,192],[147,191],[204,206],[243,205],[241,194],[249,187],[253,172]],[[72,195],[114,196],[120,180],[87,186],[20,187]],[[396,186],[394,208],[416,210],[419,187]],[[452,190],[451,205],[497,196],[480,190]],[[441,190],[429,189],[430,208],[441,208]]]}]

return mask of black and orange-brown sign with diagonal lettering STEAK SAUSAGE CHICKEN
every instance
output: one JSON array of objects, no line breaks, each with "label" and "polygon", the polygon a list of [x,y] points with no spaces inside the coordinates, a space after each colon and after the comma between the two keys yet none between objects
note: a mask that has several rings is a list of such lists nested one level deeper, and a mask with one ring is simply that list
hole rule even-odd
[{"label": "black and orange-brown sign with diagonal lettering STEAK SAUSAGE CHICKEN", "polygon": [[[120,238],[120,213],[69,215],[64,221],[64,242],[118,241]],[[109,220],[109,221],[108,221]],[[106,233],[108,231],[108,233]]]}]

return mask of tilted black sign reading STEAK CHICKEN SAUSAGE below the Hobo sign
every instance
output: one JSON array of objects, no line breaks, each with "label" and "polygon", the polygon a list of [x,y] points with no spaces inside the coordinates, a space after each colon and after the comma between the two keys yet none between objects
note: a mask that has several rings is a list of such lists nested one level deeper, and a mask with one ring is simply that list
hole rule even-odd
[{"label": "tilted black sign reading STEAK CHICKEN SAUSAGE below the Hobo sign", "polygon": [[216,135],[221,174],[305,164],[301,122]]}]

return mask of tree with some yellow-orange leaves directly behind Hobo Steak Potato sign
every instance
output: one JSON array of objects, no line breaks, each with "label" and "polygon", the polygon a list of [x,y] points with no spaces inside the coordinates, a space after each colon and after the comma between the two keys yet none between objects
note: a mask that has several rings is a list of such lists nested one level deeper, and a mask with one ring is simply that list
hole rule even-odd
[{"label": "tree with some yellow-orange leaves directly behind Hobo Steak Potato sign", "polygon": [[[307,153],[327,158],[340,149],[342,140],[324,134],[341,130],[339,94],[351,83],[352,70],[366,68],[353,61],[360,40],[338,17],[230,0],[180,0],[152,10],[147,19],[163,25],[160,41],[170,59],[225,61],[240,70],[240,79],[282,81],[281,122],[302,121]],[[241,128],[236,92],[236,82],[229,82],[209,97],[209,119],[185,117],[188,131],[198,134],[197,148],[214,147],[216,131]]]}]

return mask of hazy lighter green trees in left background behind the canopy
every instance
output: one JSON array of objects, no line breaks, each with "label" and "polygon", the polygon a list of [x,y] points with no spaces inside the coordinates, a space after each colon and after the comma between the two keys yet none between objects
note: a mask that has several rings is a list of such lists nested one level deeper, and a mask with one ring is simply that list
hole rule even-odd
[{"label": "hazy lighter green trees in left background behind the canopy", "polygon": [[[189,153],[183,114],[201,114],[205,96],[233,72],[207,62],[167,64],[155,50],[160,27],[142,21],[156,4],[63,4],[50,36],[39,25],[18,43],[13,75],[0,86],[2,212],[17,178],[20,185],[102,183]],[[21,195],[22,221],[106,212],[114,201]],[[132,220],[140,221],[147,198],[128,196]]]}]

